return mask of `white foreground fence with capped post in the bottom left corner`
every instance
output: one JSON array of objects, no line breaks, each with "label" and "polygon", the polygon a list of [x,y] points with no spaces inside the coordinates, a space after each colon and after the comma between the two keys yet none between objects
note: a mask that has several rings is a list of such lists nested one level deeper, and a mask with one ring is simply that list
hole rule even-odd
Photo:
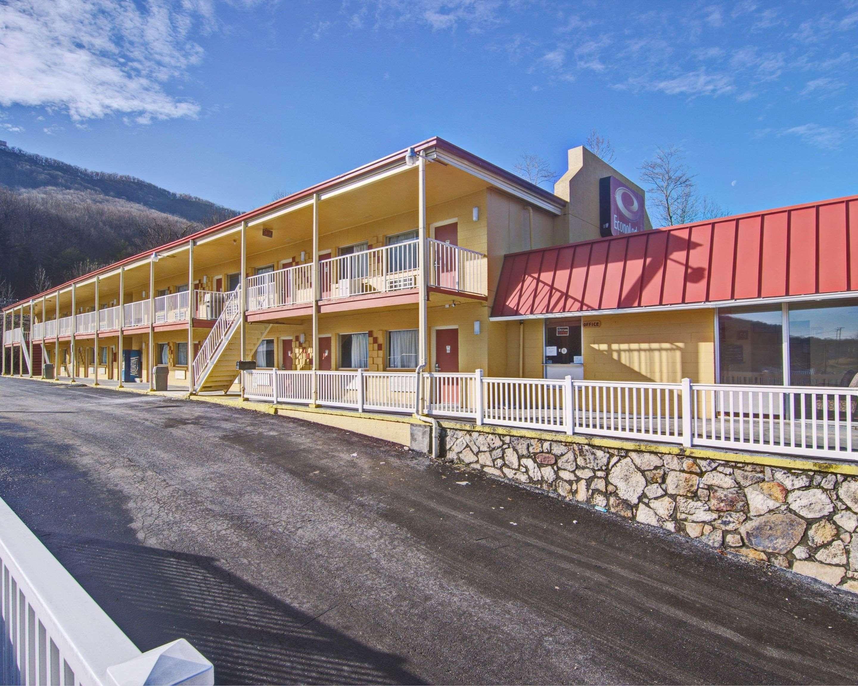
[{"label": "white foreground fence with capped post in the bottom left corner", "polygon": [[2,500],[0,577],[4,684],[150,683],[162,657],[178,667],[169,683],[214,683],[184,639],[143,655]]}]

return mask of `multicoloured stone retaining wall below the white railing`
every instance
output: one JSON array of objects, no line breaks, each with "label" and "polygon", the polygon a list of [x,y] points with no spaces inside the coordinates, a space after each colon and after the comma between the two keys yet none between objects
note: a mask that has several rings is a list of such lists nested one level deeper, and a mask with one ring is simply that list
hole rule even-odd
[{"label": "multicoloured stone retaining wall below the white railing", "polygon": [[858,593],[858,477],[442,427],[442,459]]}]

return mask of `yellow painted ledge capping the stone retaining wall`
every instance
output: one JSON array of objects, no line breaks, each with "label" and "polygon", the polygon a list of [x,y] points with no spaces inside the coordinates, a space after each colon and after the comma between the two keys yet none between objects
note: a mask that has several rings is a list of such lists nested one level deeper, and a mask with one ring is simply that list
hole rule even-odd
[{"label": "yellow painted ledge capping the stone retaining wall", "polygon": [[746,465],[773,466],[779,469],[803,469],[816,472],[832,472],[835,474],[858,475],[858,464],[849,462],[835,462],[825,460],[811,460],[801,457],[781,457],[778,455],[764,453],[736,453],[732,450],[721,450],[719,448],[684,448],[675,443],[654,443],[644,441],[631,441],[622,438],[605,438],[602,436],[568,436],[553,431],[537,431],[531,429],[514,429],[502,426],[476,426],[462,422],[451,422],[439,420],[438,424],[445,429],[459,429],[465,431],[480,431],[486,434],[498,434],[501,436],[520,436],[522,438],[536,438],[541,441],[553,441],[561,443],[583,443],[598,448],[614,448],[619,450],[634,450],[644,453],[661,453],[692,457],[696,460],[724,460],[727,462],[740,462]]}]

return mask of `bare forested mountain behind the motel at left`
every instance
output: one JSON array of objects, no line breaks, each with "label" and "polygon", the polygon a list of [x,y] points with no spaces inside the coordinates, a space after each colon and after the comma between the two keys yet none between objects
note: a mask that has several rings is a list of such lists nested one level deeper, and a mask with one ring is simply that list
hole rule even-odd
[{"label": "bare forested mountain behind the motel at left", "polygon": [[236,214],[139,178],[0,147],[0,302]]}]

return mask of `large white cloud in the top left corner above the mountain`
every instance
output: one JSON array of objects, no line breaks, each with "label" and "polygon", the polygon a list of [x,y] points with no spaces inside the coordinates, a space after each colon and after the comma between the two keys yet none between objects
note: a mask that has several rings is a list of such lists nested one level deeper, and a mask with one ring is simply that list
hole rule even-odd
[{"label": "large white cloud in the top left corner above the mountain", "polygon": [[195,117],[199,105],[167,86],[202,59],[190,36],[215,27],[213,1],[0,3],[0,105],[44,106],[73,121]]}]

